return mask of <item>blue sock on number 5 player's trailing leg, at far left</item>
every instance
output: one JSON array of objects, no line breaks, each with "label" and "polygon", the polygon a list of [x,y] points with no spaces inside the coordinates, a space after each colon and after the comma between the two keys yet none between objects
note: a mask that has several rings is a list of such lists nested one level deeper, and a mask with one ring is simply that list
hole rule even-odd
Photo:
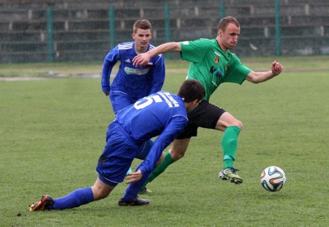
[{"label": "blue sock on number 5 player's trailing leg, at far left", "polygon": [[54,204],[48,205],[47,210],[64,210],[78,207],[94,201],[94,194],[91,187],[79,188],[70,194],[55,199]]}]

